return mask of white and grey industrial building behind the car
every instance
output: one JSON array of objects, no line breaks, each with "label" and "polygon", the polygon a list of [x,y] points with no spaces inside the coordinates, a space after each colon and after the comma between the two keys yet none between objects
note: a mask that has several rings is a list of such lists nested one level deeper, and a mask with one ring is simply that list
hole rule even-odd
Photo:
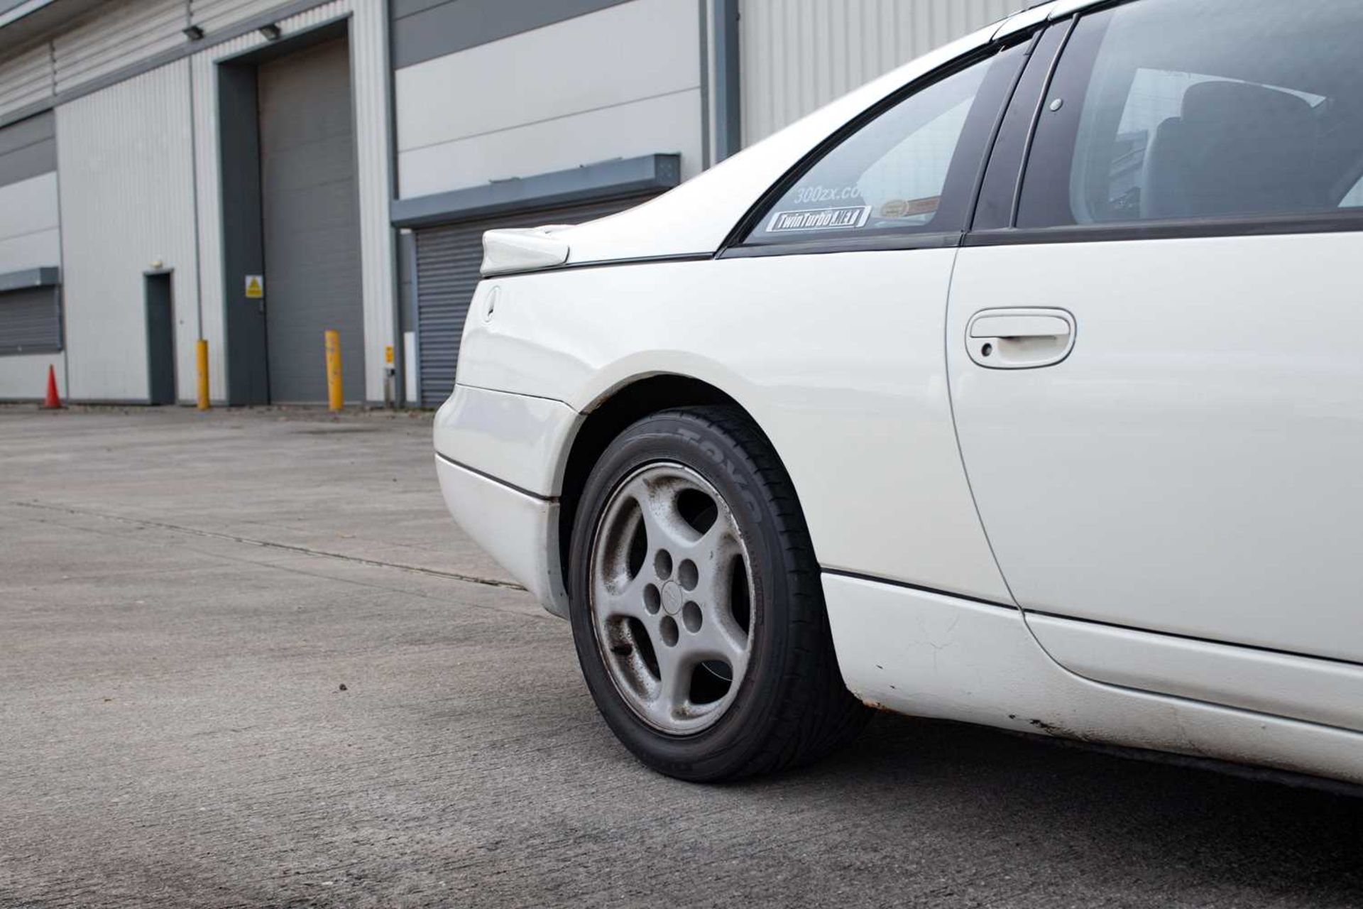
[{"label": "white and grey industrial building behind the car", "polygon": [[667,191],[1020,0],[0,0],[0,399],[450,392],[489,226]]}]

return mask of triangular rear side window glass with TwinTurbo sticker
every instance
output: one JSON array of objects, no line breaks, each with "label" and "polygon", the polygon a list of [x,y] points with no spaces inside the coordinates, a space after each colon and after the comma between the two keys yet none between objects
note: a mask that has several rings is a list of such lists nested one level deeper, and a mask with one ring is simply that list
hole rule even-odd
[{"label": "triangular rear side window glass with TwinTurbo sticker", "polygon": [[[746,244],[883,233],[936,233],[964,225],[985,123],[992,125],[1018,49],[976,63],[912,94],[866,124],[761,217]],[[992,75],[991,75],[992,74]]]}]

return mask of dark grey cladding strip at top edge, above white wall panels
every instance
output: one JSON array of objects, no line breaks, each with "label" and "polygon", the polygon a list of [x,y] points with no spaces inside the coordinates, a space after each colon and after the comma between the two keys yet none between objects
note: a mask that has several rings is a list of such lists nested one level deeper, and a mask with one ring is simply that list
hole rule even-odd
[{"label": "dark grey cladding strip at top edge, above white wall panels", "polygon": [[443,57],[627,0],[393,0],[393,67]]}]

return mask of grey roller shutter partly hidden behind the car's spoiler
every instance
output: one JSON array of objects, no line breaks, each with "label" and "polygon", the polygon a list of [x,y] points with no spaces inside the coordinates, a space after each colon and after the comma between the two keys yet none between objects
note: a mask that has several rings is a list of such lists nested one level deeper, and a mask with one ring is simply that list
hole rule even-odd
[{"label": "grey roller shutter partly hidden behind the car's spoiler", "polygon": [[484,230],[581,224],[624,211],[649,198],[537,209],[417,230],[417,384],[421,406],[439,407],[454,390],[463,318],[469,313],[473,289],[478,285],[478,267],[483,264]]}]

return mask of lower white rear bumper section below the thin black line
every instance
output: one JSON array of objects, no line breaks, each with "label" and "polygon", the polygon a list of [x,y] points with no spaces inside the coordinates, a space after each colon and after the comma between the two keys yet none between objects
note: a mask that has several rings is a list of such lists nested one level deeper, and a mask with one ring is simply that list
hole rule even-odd
[{"label": "lower white rear bumper section below the thin black line", "polygon": [[559,503],[435,457],[440,492],[455,522],[553,615],[568,617],[559,568]]}]

